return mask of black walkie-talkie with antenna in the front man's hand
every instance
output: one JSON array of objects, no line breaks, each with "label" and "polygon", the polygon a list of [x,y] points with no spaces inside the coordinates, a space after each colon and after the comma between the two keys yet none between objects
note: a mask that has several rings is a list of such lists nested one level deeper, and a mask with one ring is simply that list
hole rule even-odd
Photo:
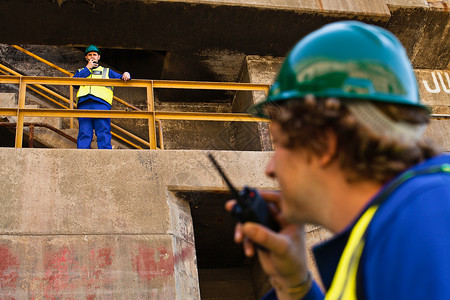
[{"label": "black walkie-talkie with antenna in the front man's hand", "polygon": [[274,231],[279,231],[279,224],[275,221],[269,211],[269,207],[261,195],[258,193],[256,189],[245,186],[244,189],[240,192],[236,190],[236,188],[231,184],[228,177],[223,172],[222,168],[217,163],[214,156],[209,153],[209,159],[216,167],[220,176],[225,180],[231,194],[236,199],[237,204],[233,206],[231,210],[231,215],[238,222],[255,222],[262,224]]}]

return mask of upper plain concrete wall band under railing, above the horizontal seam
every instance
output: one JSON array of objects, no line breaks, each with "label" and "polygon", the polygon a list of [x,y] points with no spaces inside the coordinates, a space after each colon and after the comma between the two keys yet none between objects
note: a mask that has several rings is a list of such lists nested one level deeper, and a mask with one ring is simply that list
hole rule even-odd
[{"label": "upper plain concrete wall band under railing, above the horizontal seam", "polygon": [[[206,151],[0,149],[3,234],[168,234],[172,190],[223,187]],[[263,152],[221,152],[236,183],[273,187]],[[258,163],[259,162],[259,163]]]}]

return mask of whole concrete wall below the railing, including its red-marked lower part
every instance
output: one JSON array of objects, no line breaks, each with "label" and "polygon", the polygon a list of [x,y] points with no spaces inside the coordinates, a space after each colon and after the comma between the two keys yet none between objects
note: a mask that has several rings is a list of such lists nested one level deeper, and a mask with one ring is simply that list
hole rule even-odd
[{"label": "whole concrete wall below the railing, including its red-marked lower part", "polygon": [[[269,153],[216,156],[234,182],[275,188]],[[224,189],[206,152],[2,148],[0,164],[1,297],[199,299],[190,208],[174,193]]]}]

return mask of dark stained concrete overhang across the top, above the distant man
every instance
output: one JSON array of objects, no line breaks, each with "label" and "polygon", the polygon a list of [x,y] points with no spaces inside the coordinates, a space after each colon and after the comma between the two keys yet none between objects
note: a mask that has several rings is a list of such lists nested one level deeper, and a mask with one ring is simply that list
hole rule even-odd
[{"label": "dark stained concrete overhang across the top, above the distant man", "polygon": [[357,19],[398,34],[417,67],[442,68],[449,63],[448,7],[448,0],[3,1],[0,42],[283,56],[312,30]]}]

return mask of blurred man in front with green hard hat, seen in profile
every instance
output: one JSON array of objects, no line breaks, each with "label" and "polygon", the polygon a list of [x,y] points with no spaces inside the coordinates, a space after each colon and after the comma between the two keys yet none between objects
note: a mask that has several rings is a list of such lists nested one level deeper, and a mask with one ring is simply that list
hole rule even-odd
[{"label": "blurred man in front with green hard hat, seen in profile", "polygon": [[[322,27],[254,109],[272,120],[266,174],[280,192],[261,194],[282,229],[238,224],[235,241],[258,254],[273,286],[264,299],[449,299],[450,155],[423,138],[429,113],[395,36]],[[305,223],[336,234],[314,249],[325,295],[307,268]]]}]

